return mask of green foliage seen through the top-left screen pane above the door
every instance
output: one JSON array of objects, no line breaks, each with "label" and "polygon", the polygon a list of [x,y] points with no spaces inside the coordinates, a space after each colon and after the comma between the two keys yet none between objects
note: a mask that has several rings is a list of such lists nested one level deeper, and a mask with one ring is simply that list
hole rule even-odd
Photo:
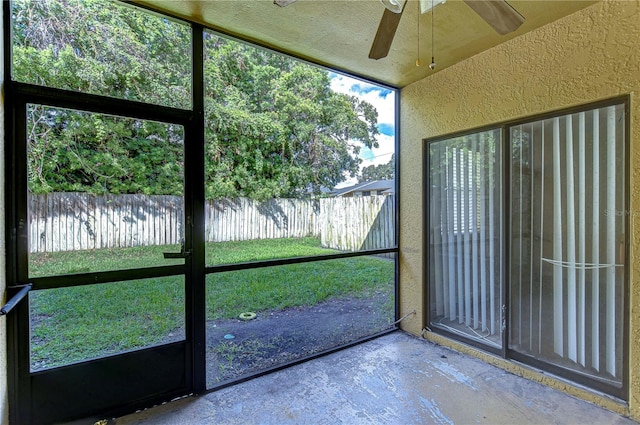
[{"label": "green foliage seen through the top-left screen pane above the door", "polygon": [[13,78],[167,106],[191,105],[190,28],[102,0],[13,4]]}]

